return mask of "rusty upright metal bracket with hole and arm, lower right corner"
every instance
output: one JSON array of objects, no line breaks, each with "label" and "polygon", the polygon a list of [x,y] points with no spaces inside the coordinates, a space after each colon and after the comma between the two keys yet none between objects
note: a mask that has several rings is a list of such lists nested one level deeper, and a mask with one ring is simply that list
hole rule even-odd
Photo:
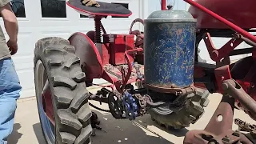
[{"label": "rusty upright metal bracket with hole and arm, lower right corner", "polygon": [[[215,110],[214,115],[210,119],[205,130],[190,130],[184,138],[184,144],[253,143],[250,142],[250,140],[243,134],[232,130],[234,98],[241,99],[241,102],[243,103],[248,102],[250,96],[246,94],[246,92],[242,90],[241,86],[239,86],[233,79],[223,81],[222,89],[224,90],[222,101]],[[234,96],[234,98],[231,96]],[[254,105],[251,103],[255,103],[254,100],[251,100],[249,103],[250,104],[246,106],[253,110],[252,106]]]}]

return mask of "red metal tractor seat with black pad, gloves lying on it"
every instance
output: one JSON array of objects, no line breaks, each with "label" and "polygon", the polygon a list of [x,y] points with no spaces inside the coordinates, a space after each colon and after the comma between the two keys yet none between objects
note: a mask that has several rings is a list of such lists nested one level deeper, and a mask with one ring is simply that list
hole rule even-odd
[{"label": "red metal tractor seat with black pad, gloves lying on it", "polygon": [[66,4],[83,15],[129,17],[132,14],[130,10],[120,4],[108,2],[98,2],[98,7],[86,6],[81,0],[69,0]]}]

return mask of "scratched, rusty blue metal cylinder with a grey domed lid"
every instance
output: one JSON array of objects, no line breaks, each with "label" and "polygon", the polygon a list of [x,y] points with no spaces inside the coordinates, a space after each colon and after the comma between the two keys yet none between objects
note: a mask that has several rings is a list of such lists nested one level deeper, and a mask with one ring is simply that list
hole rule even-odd
[{"label": "scratched, rusty blue metal cylinder with a grey domed lid", "polygon": [[149,88],[193,84],[195,26],[196,19],[182,10],[154,11],[145,19],[144,73]]}]

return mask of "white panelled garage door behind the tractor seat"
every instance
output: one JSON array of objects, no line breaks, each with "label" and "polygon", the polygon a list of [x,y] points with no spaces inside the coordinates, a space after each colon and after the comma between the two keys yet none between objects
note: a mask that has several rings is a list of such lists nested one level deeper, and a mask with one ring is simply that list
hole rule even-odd
[{"label": "white panelled garage door behind the tractor seat", "polygon": [[[127,33],[134,18],[142,17],[142,3],[138,0],[102,0],[121,3],[133,12],[130,18],[106,18],[102,23],[108,33]],[[13,56],[18,77],[22,84],[22,98],[34,96],[34,44],[39,38],[58,36],[69,38],[70,34],[94,30],[94,20],[80,14],[59,0],[13,0],[13,10],[18,17],[19,50]],[[4,25],[1,19],[1,26]],[[8,36],[6,34],[6,39]]]}]

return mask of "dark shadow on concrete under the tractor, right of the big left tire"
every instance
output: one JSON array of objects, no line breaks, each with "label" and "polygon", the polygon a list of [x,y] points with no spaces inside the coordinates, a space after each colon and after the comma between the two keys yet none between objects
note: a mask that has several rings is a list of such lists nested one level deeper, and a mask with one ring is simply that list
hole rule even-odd
[{"label": "dark shadow on concrete under the tractor, right of the big left tire", "polygon": [[165,138],[159,136],[154,131],[146,127],[146,123],[130,120],[118,120],[111,114],[102,114],[98,110],[93,110],[98,114],[101,121],[102,130],[96,130],[96,136],[92,137],[92,143],[97,144],[172,144]]}]

